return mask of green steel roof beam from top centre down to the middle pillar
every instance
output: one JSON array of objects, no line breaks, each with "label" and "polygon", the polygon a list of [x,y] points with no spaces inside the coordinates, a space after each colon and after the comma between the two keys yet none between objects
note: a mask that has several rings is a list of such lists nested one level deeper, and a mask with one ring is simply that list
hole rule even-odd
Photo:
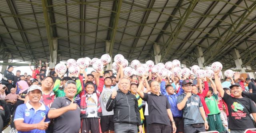
[{"label": "green steel roof beam from top centre down to the middle pillar", "polygon": [[112,53],[113,53],[117,25],[118,25],[118,20],[119,20],[119,16],[120,16],[121,6],[122,6],[122,0],[118,0],[117,2],[118,2],[118,4],[117,4],[117,8],[116,8],[116,16],[115,16],[115,20],[114,20],[113,30],[112,30],[111,37],[110,37],[110,46],[109,46],[109,50],[108,50],[109,55],[111,57],[112,57]]}]

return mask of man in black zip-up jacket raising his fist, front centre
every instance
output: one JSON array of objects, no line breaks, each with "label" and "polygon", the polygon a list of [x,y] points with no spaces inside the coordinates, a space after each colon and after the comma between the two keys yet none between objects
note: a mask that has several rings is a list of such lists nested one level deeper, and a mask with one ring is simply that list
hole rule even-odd
[{"label": "man in black zip-up jacket raising his fist, front centre", "polygon": [[129,92],[130,80],[122,78],[118,84],[118,91],[113,91],[106,104],[106,110],[114,109],[115,133],[137,133],[137,126],[142,133],[138,101]]}]

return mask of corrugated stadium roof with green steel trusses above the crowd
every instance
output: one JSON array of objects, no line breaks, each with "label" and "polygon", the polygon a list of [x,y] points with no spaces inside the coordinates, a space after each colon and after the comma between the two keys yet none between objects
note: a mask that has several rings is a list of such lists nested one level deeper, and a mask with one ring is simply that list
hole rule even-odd
[{"label": "corrugated stadium roof with green steel trusses above the crowd", "polygon": [[[0,60],[50,60],[58,39],[59,60],[100,58],[106,53],[154,61],[214,61],[235,67],[232,50],[242,66],[256,65],[256,0],[1,0]],[[6,58],[5,58],[6,59]]]}]

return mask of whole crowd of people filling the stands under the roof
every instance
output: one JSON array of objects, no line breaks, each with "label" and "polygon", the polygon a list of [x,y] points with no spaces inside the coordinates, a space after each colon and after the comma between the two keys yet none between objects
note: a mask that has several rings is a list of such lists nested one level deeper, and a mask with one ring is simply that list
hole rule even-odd
[{"label": "whole crowd of people filling the stands under the roof", "polygon": [[[85,68],[75,75],[48,66],[32,75],[3,73],[0,131],[10,133],[244,133],[255,128],[256,83],[239,72],[213,77],[162,77],[151,69],[126,77],[112,70]],[[106,64],[104,64],[106,65]]]}]

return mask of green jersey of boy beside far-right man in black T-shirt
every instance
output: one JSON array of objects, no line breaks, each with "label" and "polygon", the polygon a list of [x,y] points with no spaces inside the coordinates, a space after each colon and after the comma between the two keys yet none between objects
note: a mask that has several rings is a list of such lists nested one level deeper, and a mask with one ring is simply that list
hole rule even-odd
[{"label": "green jersey of boy beside far-right man in black T-shirt", "polygon": [[212,93],[211,97],[205,97],[205,103],[210,111],[208,115],[215,115],[220,113],[220,109],[218,107],[218,95]]}]

